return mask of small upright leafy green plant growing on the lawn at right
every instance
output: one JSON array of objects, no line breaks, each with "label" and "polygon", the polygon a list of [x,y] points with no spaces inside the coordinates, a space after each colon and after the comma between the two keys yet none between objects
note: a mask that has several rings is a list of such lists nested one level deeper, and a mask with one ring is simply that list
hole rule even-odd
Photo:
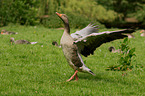
[{"label": "small upright leafy green plant growing on the lawn at right", "polygon": [[119,47],[119,49],[121,50],[118,61],[119,65],[109,66],[107,70],[126,71],[132,70],[132,68],[134,68],[134,66],[132,65],[132,58],[136,56],[134,53],[135,48],[130,48],[128,43],[128,38],[125,38]]}]

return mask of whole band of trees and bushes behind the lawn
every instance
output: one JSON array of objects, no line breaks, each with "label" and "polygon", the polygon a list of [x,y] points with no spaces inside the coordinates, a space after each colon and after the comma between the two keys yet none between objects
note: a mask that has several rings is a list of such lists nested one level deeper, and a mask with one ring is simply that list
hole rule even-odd
[{"label": "whole band of trees and bushes behind the lawn", "polygon": [[67,14],[73,28],[82,28],[91,21],[99,25],[126,24],[126,18],[145,25],[144,0],[0,0],[0,26],[19,23],[62,27],[56,25],[59,20],[55,12]]}]

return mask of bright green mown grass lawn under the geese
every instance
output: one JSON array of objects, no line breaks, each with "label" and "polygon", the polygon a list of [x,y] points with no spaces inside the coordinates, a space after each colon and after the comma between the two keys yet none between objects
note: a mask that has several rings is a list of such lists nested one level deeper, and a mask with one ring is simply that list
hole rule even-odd
[{"label": "bright green mown grass lawn under the geese", "polygon": [[[106,71],[109,65],[118,64],[118,53],[110,53],[108,47],[119,47],[121,40],[101,45],[94,55],[83,60],[95,74],[78,73],[79,80],[65,82],[73,74],[61,48],[52,45],[60,42],[63,30],[42,26],[11,25],[0,30],[18,32],[16,35],[0,35],[0,95],[13,96],[143,96],[145,95],[145,67],[126,71]],[[101,31],[117,29],[100,29]],[[75,32],[76,29],[71,30]],[[140,30],[134,33],[129,46],[135,47],[132,64],[145,66],[145,37]],[[10,37],[38,42],[35,45],[11,45]]]}]

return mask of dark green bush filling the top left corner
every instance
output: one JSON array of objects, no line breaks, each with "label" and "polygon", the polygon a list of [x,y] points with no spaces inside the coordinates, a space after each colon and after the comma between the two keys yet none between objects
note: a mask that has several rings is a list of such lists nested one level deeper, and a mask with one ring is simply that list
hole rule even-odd
[{"label": "dark green bush filling the top left corner", "polygon": [[3,0],[0,3],[0,21],[2,22],[1,25],[6,25],[8,23],[19,23],[22,25],[36,24],[36,1]]}]

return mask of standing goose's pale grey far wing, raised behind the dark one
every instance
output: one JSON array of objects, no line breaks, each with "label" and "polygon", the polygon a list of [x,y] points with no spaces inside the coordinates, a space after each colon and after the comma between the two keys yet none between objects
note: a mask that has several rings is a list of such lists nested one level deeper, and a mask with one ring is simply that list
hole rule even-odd
[{"label": "standing goose's pale grey far wing, raised behind the dark one", "polygon": [[89,24],[88,26],[86,26],[82,30],[76,31],[75,33],[72,33],[71,37],[76,41],[80,38],[83,38],[83,37],[89,35],[89,34],[97,33],[98,32],[97,27],[98,27],[98,25],[94,26],[94,24]]}]

